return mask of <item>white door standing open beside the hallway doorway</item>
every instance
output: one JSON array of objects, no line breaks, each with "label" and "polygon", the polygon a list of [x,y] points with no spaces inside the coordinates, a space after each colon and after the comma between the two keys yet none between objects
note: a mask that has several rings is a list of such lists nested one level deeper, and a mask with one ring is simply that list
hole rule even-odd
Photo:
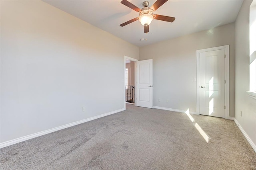
[{"label": "white door standing open beside the hallway doorway", "polygon": [[136,62],[136,106],[153,107],[153,60]]}]

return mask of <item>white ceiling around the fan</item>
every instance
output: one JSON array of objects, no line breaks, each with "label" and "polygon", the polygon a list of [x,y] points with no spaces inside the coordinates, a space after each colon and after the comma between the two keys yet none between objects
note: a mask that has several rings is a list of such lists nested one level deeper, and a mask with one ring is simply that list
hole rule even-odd
[{"label": "white ceiling around the fan", "polygon": [[[173,23],[153,20],[150,32],[144,33],[139,21],[120,27],[138,17],[138,13],[121,4],[121,0],[43,0],[77,18],[103,29],[138,47],[232,23],[243,0],[168,0],[154,14],[172,16]],[[144,0],[128,0],[143,8]],[[151,6],[156,0],[148,0]],[[147,41],[140,41],[140,39]]]}]

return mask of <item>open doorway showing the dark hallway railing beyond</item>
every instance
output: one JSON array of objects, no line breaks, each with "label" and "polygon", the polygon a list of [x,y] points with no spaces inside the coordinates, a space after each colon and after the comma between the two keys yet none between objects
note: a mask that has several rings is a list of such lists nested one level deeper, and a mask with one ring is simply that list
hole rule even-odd
[{"label": "open doorway showing the dark hallway railing beyond", "polygon": [[136,61],[131,57],[124,57],[124,108],[126,104],[136,106]]}]

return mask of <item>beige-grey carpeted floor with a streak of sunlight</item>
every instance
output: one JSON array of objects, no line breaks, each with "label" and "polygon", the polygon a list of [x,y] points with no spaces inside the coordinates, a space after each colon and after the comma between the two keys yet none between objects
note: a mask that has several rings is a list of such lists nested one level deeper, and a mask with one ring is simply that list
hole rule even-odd
[{"label": "beige-grey carpeted floor with a streak of sunlight", "polygon": [[234,121],[191,116],[128,104],[126,111],[0,149],[0,169],[256,169],[256,153]]}]

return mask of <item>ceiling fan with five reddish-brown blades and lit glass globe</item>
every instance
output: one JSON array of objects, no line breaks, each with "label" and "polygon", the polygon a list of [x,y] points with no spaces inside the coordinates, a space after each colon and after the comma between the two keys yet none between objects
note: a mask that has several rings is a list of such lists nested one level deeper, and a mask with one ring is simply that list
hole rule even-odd
[{"label": "ceiling fan with five reddish-brown blades and lit glass globe", "polygon": [[152,20],[162,20],[162,21],[167,21],[167,22],[173,22],[175,20],[174,17],[169,17],[169,16],[161,16],[157,14],[153,14],[155,10],[157,10],[160,6],[162,6],[165,2],[168,0],[157,0],[150,8],[148,7],[149,2],[145,1],[143,2],[144,8],[140,9],[134,4],[128,2],[127,0],[122,0],[121,4],[124,4],[125,6],[128,6],[132,10],[138,12],[140,14],[140,17],[136,17],[132,20],[129,20],[125,23],[120,24],[121,27],[128,25],[129,23],[132,23],[134,21],[139,20],[142,25],[144,25],[144,33],[149,32],[149,24],[151,23]]}]

